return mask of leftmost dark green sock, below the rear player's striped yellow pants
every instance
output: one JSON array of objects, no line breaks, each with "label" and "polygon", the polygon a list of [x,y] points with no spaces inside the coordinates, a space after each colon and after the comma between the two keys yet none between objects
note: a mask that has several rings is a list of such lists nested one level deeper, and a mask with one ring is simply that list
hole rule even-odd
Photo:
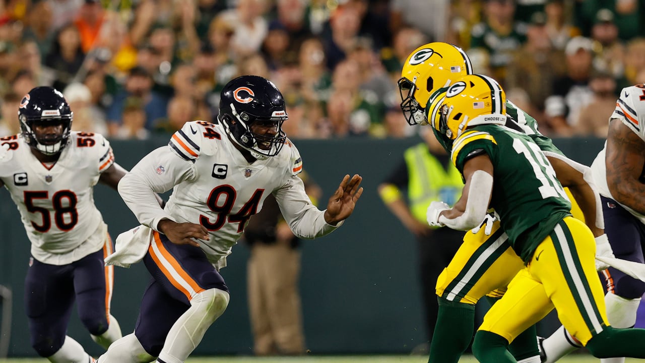
[{"label": "leftmost dark green sock, below the rear player's striped yellow pants", "polygon": [[475,306],[437,296],[439,315],[428,363],[457,363],[473,338]]}]

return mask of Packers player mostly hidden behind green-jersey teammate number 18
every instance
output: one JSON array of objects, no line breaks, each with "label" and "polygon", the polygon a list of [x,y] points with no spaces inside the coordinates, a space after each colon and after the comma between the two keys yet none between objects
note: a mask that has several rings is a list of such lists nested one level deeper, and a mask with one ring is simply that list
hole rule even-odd
[{"label": "Packers player mostly hidden behind green-jersey teammate number 18", "polygon": [[[456,79],[471,73],[470,59],[454,45],[435,42],[413,51],[406,59],[399,80],[401,108],[408,123],[427,125],[428,101],[435,94],[445,92]],[[602,247],[608,243],[602,231],[599,198],[588,183],[589,168],[565,158],[551,140],[539,132],[535,119],[510,101],[506,101],[506,114],[513,129],[530,136],[542,151],[550,155],[557,177],[562,185],[570,188],[585,212],[584,219],[597,236],[598,250],[611,255],[610,248]],[[452,148],[450,138],[436,130],[435,135],[444,147]],[[439,316],[430,346],[430,362],[459,361],[472,339],[475,304],[485,295],[492,298],[503,295],[513,276],[523,267],[522,260],[506,242],[507,238],[503,229],[499,229],[499,221],[488,224],[485,229],[473,229],[473,233],[466,234],[459,251],[437,280]],[[602,269],[604,266],[599,267]],[[531,327],[516,338],[510,351],[523,363],[539,363],[535,328]]]}]

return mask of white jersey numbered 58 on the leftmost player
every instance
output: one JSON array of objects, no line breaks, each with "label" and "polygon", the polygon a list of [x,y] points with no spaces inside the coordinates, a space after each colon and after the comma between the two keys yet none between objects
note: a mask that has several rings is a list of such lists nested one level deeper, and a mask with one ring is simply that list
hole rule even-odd
[{"label": "white jersey numbered 58 on the leftmost player", "polygon": [[0,144],[0,180],[20,211],[34,258],[64,265],[101,249],[107,229],[93,187],[114,163],[108,140],[72,132],[53,165],[37,160],[21,136]]}]

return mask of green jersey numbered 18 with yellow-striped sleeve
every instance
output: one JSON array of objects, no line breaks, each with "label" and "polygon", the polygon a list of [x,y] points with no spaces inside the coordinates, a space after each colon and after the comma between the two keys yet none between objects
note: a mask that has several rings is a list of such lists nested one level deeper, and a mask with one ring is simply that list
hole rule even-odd
[{"label": "green jersey numbered 18 with yellow-striped sleeve", "polygon": [[478,125],[455,139],[452,161],[460,172],[469,155],[483,150],[493,163],[490,207],[520,258],[528,262],[571,202],[538,145],[526,134],[500,125]]}]

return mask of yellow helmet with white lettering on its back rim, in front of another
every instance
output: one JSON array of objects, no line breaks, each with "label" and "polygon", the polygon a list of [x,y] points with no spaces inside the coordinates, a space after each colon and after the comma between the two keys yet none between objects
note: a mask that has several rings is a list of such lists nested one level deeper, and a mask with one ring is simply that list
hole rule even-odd
[{"label": "yellow helmet with white lettering on its back rim, in front of another", "polygon": [[430,100],[428,118],[439,133],[455,140],[468,127],[506,123],[506,93],[488,76],[470,74]]}]

